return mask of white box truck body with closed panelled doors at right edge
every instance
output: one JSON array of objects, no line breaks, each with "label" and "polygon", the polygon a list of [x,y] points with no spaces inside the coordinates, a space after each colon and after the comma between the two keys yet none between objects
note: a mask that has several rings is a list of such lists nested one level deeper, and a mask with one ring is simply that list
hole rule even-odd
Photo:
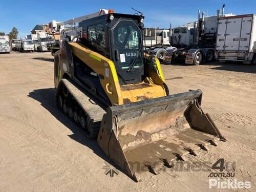
[{"label": "white box truck body with closed panelled doors at right edge", "polygon": [[256,64],[256,23],[255,14],[220,17],[216,59],[242,61],[244,64]]}]

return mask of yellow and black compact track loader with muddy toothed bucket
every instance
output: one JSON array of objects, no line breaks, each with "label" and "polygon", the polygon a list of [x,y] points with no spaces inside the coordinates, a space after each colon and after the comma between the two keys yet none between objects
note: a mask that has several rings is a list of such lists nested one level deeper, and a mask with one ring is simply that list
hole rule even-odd
[{"label": "yellow and black compact track loader with muddy toothed bucket", "polygon": [[143,51],[143,19],[100,10],[53,22],[62,30],[54,55],[57,109],[135,181],[225,141],[201,108],[200,90],[169,95],[159,60]]}]

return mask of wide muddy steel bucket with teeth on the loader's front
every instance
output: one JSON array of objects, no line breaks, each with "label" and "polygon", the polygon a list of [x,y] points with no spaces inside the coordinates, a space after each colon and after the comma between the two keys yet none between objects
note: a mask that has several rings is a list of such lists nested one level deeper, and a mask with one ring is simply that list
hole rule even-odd
[{"label": "wide muddy steel bucket with teeth on the loader's front", "polygon": [[216,145],[221,135],[201,109],[201,90],[111,106],[103,116],[98,144],[135,181],[158,174],[174,160]]}]

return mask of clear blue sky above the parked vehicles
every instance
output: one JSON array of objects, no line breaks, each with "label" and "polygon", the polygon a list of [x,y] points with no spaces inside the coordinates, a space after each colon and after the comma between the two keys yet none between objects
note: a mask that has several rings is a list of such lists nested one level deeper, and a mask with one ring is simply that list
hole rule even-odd
[{"label": "clear blue sky above the parked vehicles", "polygon": [[36,24],[47,24],[51,20],[67,20],[97,12],[100,8],[114,9],[115,12],[134,14],[131,7],[143,12],[145,26],[168,28],[171,22],[173,27],[194,21],[197,18],[197,9],[216,14],[225,3],[225,13],[246,14],[256,13],[256,1],[70,1],[70,0],[1,0],[0,1],[0,32],[9,33],[12,27],[19,31],[19,37],[30,34]]}]

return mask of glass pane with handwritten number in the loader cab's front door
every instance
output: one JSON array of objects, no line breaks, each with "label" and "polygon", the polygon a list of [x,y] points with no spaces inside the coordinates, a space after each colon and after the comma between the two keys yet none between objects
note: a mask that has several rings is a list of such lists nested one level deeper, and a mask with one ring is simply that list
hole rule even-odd
[{"label": "glass pane with handwritten number in the loader cab's front door", "polygon": [[140,30],[135,23],[121,20],[115,27],[114,44],[119,51],[120,67],[129,69],[142,66],[141,36]]}]

